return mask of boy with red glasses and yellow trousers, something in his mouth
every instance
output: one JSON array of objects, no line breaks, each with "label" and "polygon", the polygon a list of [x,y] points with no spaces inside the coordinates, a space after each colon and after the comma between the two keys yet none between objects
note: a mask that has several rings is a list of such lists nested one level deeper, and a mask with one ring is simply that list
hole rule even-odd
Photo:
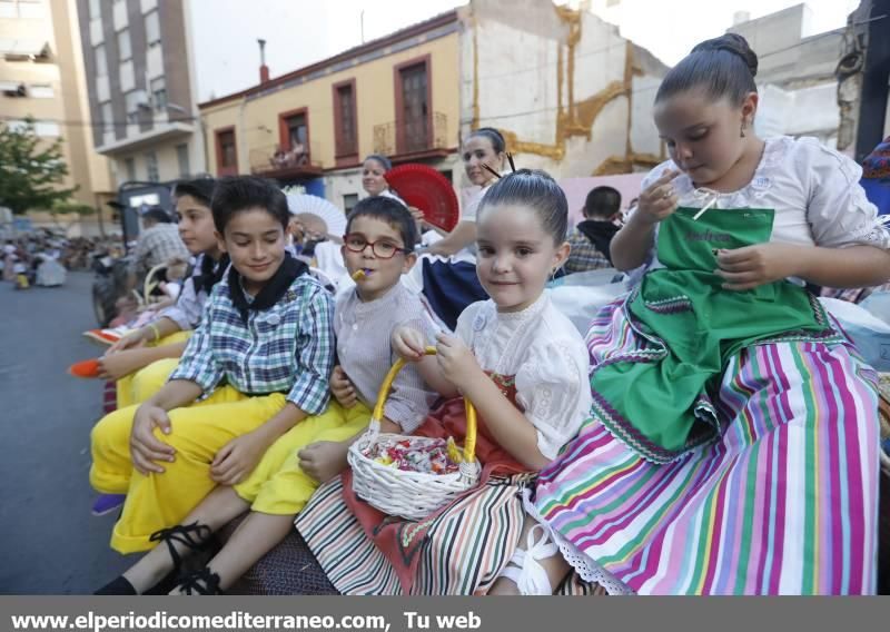
[{"label": "boy with red glasses and yellow trousers, something in his mouth", "polygon": [[[347,467],[346,452],[365,431],[370,406],[395,361],[392,330],[411,323],[432,339],[419,297],[399,283],[417,259],[418,235],[408,210],[390,198],[367,198],[350,213],[342,247],[346,266],[349,273],[362,270],[364,276],[354,292],[339,297],[334,309],[339,365],[334,368],[330,391],[336,402],[324,414],[281,435],[244,482],[214,490],[184,520],[189,526],[174,527],[195,530],[204,540],[250,510],[207,566],[181,579],[179,593],[225,590],[293,531],[294,515],[318,484]],[[384,432],[413,432],[435,398],[417,365],[407,366],[396,376],[384,407]],[[151,551],[100,594],[113,592],[116,586],[151,592],[159,582],[167,587],[164,576],[175,571],[178,555],[187,555],[191,547],[182,540],[168,545],[169,550]]]}]

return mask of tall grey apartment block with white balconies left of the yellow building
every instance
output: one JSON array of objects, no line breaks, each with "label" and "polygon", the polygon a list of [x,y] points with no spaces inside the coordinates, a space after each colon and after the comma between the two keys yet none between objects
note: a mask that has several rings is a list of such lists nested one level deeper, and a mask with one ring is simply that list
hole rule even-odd
[{"label": "tall grey apartment block with white balconies left of the yellow building", "polygon": [[96,151],[117,185],[204,170],[181,0],[78,0]]}]

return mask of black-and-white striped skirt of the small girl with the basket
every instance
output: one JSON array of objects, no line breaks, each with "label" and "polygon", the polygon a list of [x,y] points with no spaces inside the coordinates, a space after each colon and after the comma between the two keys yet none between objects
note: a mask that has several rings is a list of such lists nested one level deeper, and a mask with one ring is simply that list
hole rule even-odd
[{"label": "black-and-white striped skirt of the small girl with the basket", "polygon": [[[387,556],[367,537],[335,478],[322,485],[297,516],[296,526],[330,583],[343,594],[484,594],[506,565],[522,532],[523,475],[493,476],[475,493],[456,500],[428,524],[405,523],[404,539],[419,560],[414,582],[402,585]],[[406,547],[407,547],[407,543]],[[576,576],[562,594],[602,594]]]}]

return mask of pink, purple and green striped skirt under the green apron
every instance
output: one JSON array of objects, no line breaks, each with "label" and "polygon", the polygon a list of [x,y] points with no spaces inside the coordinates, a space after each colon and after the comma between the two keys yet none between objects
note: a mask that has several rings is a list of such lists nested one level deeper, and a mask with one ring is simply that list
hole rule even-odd
[{"label": "pink, purple and green striped skirt under the green apron", "polygon": [[[587,344],[594,371],[645,347],[619,303]],[[846,344],[749,347],[720,382],[718,441],[655,465],[591,418],[526,508],[610,593],[873,593],[876,379]]]}]

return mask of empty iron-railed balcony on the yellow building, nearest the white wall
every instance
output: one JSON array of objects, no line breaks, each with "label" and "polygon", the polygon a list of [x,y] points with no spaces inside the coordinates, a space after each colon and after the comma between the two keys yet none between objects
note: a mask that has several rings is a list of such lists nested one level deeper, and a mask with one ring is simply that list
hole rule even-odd
[{"label": "empty iron-railed balcony on the yellow building, nearest the white wall", "polygon": [[451,154],[448,117],[433,112],[426,125],[397,121],[375,125],[374,152],[388,156],[393,162],[444,158]]}]

